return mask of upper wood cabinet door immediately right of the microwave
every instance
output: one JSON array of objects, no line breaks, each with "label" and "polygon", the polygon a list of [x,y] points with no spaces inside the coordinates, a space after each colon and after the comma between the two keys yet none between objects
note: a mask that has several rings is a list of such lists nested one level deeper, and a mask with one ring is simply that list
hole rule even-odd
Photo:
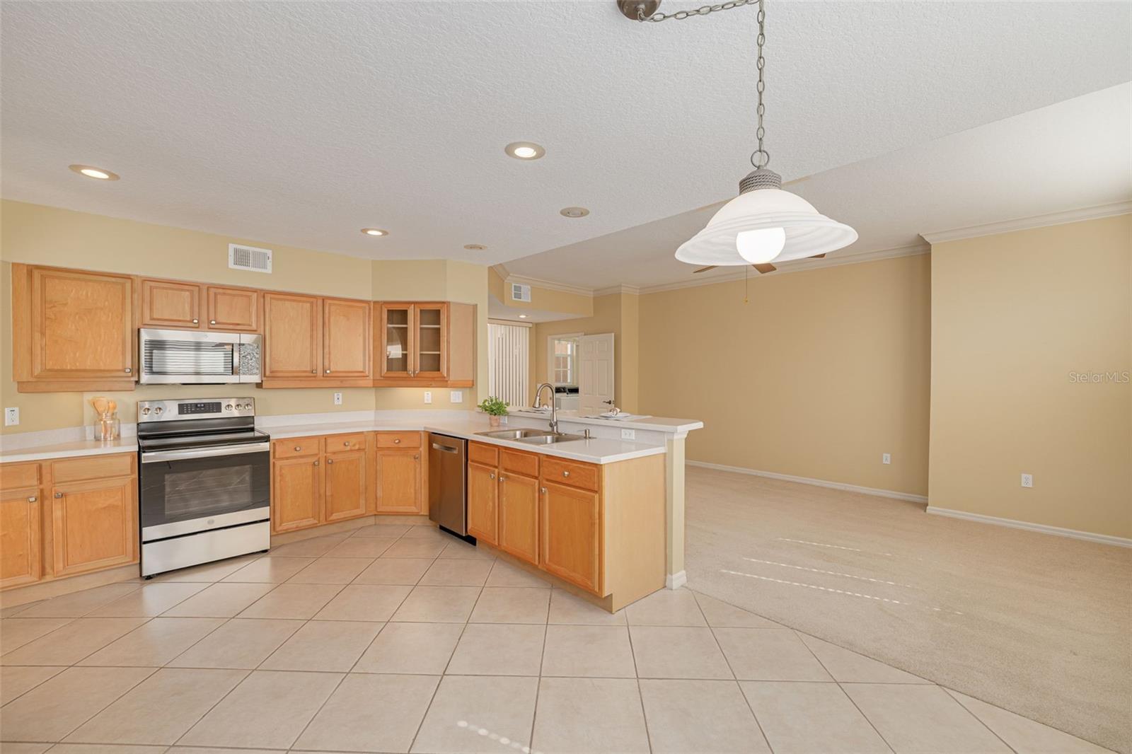
[{"label": "upper wood cabinet door immediately right of the microwave", "polygon": [[264,379],[317,379],[321,365],[321,299],[264,294]]}]

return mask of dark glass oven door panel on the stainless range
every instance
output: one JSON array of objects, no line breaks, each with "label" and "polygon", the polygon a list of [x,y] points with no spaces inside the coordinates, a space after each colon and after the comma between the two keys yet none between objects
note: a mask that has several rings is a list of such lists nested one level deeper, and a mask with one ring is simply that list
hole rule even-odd
[{"label": "dark glass oven door panel on the stainless range", "polygon": [[269,505],[266,451],[142,463],[142,528]]}]

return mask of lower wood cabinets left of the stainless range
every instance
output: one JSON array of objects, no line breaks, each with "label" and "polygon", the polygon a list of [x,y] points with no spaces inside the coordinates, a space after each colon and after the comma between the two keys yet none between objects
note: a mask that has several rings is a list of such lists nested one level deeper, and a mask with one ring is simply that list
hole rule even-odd
[{"label": "lower wood cabinets left of the stainless range", "polygon": [[132,453],[0,466],[0,589],[138,560]]}]

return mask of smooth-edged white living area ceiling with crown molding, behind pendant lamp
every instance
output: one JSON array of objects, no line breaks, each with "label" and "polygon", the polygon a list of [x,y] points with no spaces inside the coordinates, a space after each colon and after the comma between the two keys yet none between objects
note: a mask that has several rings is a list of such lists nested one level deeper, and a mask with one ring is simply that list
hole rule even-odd
[{"label": "smooth-edged white living area ceiling with crown molding, behind pendant lamp", "polygon": [[[920,233],[1034,217],[1132,199],[1132,84],[1121,84],[927,144],[835,168],[789,190],[852,225],[860,239],[825,263],[923,246]],[[601,289],[689,281],[676,248],[713,204],[507,263],[526,277]],[[782,268],[817,266],[805,260]],[[696,280],[734,274],[720,267]]]}]

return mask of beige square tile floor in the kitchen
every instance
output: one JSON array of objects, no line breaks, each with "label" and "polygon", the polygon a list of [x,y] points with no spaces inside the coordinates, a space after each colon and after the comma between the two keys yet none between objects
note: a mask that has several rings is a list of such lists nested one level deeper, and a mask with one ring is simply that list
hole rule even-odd
[{"label": "beige square tile floor in the kitchen", "polygon": [[688,589],[609,615],[428,525],[7,608],[0,752],[1100,752]]}]

